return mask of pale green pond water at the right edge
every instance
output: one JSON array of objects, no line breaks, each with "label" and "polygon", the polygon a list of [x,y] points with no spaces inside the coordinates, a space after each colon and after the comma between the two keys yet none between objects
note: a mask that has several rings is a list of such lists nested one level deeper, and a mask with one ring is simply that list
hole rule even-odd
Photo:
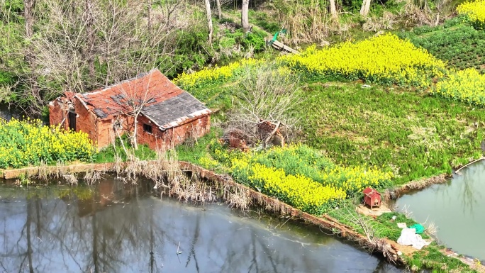
[{"label": "pale green pond water at the right edge", "polygon": [[447,184],[401,196],[396,204],[421,223],[435,223],[437,238],[447,247],[485,260],[485,162],[461,173]]}]

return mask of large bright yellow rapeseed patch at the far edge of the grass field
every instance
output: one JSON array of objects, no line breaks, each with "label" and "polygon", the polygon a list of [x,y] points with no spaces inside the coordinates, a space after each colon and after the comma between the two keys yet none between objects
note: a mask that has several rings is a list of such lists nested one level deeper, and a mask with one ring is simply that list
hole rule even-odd
[{"label": "large bright yellow rapeseed patch at the far edge of the grass field", "polygon": [[445,64],[426,50],[391,34],[322,50],[311,46],[301,55],[286,55],[279,61],[316,79],[344,77],[414,86],[429,86],[428,79],[442,76],[445,69]]}]

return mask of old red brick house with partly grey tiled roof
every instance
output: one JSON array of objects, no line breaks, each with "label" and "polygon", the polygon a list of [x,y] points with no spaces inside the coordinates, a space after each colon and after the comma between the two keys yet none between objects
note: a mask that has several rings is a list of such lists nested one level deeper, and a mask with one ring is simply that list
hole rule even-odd
[{"label": "old red brick house with partly grey tiled roof", "polygon": [[[99,148],[133,133],[138,143],[163,150],[199,138],[211,126],[211,111],[170,82],[158,69],[84,94],[67,91],[49,103],[50,124],[82,131]],[[135,116],[138,113],[135,124]]]}]

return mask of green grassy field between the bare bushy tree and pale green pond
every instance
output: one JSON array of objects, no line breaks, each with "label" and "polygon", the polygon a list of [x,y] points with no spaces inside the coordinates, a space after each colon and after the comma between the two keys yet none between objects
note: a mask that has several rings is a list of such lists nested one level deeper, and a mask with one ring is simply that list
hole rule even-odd
[{"label": "green grassy field between the bare bushy tree and pale green pond", "polygon": [[485,111],[413,91],[309,84],[303,141],[345,165],[393,169],[396,184],[481,157]]}]

